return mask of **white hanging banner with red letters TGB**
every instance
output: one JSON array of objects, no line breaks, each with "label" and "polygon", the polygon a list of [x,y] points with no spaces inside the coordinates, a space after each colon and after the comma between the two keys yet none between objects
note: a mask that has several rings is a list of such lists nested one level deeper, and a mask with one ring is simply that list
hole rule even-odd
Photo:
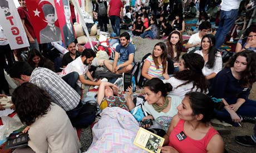
[{"label": "white hanging banner with red letters TGB", "polygon": [[26,32],[13,0],[0,1],[0,24],[11,49],[29,47]]}]

